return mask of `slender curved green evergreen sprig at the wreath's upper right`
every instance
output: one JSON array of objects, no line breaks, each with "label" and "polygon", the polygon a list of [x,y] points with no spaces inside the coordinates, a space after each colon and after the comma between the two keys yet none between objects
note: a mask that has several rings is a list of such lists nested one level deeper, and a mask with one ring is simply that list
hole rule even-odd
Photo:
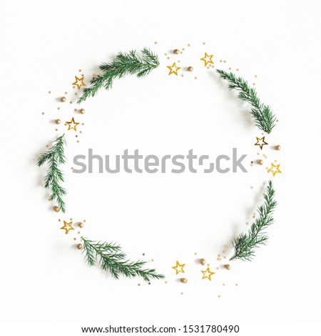
[{"label": "slender curved green evergreen sprig at the wreath's upper right", "polygon": [[268,105],[260,102],[257,92],[253,87],[250,87],[248,81],[242,77],[237,77],[233,72],[226,72],[220,69],[216,70],[220,77],[228,81],[229,89],[238,90],[238,98],[248,102],[251,105],[250,114],[255,120],[255,125],[263,132],[270,134],[275,127],[275,114],[272,113]]}]

